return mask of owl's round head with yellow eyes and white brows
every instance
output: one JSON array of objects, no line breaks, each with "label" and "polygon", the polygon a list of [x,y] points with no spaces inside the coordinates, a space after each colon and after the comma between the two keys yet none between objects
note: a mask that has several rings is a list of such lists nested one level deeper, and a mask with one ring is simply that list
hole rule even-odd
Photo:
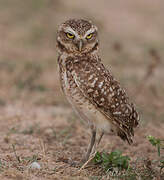
[{"label": "owl's round head with yellow eyes and white brows", "polygon": [[83,19],[70,19],[59,26],[57,47],[60,53],[85,54],[97,51],[97,27]]}]

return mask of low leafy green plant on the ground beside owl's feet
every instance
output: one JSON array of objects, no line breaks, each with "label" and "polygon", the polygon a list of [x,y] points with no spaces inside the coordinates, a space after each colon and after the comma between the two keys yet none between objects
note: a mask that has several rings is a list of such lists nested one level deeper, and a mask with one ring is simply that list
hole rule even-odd
[{"label": "low leafy green plant on the ground beside owl's feet", "polygon": [[118,169],[127,170],[129,168],[129,156],[123,156],[121,151],[113,151],[111,153],[97,152],[94,159],[95,164],[101,164],[106,172]]}]

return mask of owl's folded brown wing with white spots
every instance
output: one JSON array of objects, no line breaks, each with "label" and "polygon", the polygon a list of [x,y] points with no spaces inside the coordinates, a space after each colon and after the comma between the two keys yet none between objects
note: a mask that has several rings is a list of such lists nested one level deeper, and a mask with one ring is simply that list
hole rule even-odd
[{"label": "owl's folded brown wing with white spots", "polygon": [[84,58],[72,66],[72,76],[83,95],[117,127],[122,139],[132,143],[139,116],[125,90],[99,61]]}]

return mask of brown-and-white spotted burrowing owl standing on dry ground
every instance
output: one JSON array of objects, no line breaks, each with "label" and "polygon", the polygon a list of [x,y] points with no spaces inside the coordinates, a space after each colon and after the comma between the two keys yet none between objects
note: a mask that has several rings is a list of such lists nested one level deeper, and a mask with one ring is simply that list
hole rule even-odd
[{"label": "brown-and-white spotted burrowing owl standing on dry ground", "polygon": [[102,132],[99,141],[103,133],[112,130],[131,144],[139,115],[101,62],[97,27],[83,19],[67,20],[59,26],[57,48],[62,90],[92,130],[84,160],[88,160],[95,144],[96,130]]}]

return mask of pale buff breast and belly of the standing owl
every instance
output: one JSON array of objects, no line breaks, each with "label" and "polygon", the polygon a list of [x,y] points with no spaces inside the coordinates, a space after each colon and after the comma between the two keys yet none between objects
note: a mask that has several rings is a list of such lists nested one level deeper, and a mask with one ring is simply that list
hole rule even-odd
[{"label": "pale buff breast and belly of the standing owl", "polygon": [[101,131],[110,132],[110,122],[80,91],[71,73],[63,71],[61,80],[63,92],[80,118]]}]

